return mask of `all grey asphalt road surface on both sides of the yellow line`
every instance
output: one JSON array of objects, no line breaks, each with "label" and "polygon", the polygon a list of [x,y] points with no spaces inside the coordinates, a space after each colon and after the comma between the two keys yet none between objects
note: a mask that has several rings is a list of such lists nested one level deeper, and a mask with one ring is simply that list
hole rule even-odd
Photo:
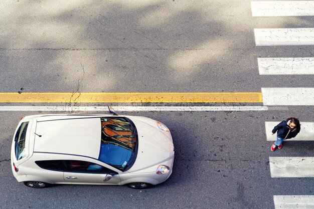
[{"label": "all grey asphalt road surface on both sides of the yellow line", "polygon": [[[259,57],[312,57],[314,48],[256,47],[253,32],[310,28],[312,17],[253,18],[250,1],[2,1],[0,10],[0,92],[260,92],[314,83],[312,75],[259,75]],[[14,130],[43,112],[3,111],[0,208],[273,208],[273,195],[311,195],[313,187],[311,178],[271,178],[269,156],[312,156],[314,143],[271,152],[265,121],[312,122],[313,110],[119,113],[162,121],[173,135],[172,176],[145,190],[18,183]]]}]

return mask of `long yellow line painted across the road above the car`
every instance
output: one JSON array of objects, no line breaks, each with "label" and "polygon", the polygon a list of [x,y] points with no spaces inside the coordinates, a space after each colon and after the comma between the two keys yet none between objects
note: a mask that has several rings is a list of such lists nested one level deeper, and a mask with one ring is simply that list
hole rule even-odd
[{"label": "long yellow line painted across the road above the car", "polygon": [[176,93],[0,93],[0,103],[21,102],[168,102],[168,103],[213,103],[213,102],[263,102],[260,92],[176,92]]}]

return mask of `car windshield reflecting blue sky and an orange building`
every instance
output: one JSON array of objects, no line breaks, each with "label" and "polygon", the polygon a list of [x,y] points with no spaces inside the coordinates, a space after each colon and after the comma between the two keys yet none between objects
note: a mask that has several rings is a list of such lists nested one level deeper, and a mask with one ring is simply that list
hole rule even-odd
[{"label": "car windshield reflecting blue sky and an orange building", "polygon": [[101,117],[101,146],[98,160],[124,170],[136,156],[137,134],[124,117]]}]

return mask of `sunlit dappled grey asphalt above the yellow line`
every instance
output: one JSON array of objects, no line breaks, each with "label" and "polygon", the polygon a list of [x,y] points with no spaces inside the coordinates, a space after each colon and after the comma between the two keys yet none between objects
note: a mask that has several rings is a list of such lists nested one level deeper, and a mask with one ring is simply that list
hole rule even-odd
[{"label": "sunlit dappled grey asphalt above the yellow line", "polygon": [[260,76],[254,28],[308,28],[309,17],[252,17],[250,1],[3,1],[1,92],[260,92],[312,76]]}]

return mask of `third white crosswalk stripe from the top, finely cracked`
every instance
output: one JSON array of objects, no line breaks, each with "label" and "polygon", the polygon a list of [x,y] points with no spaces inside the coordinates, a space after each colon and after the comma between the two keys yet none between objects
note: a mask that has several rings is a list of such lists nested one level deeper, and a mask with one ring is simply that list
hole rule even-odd
[{"label": "third white crosswalk stripe from the top, finely cracked", "polygon": [[260,75],[314,75],[314,58],[257,58]]}]

